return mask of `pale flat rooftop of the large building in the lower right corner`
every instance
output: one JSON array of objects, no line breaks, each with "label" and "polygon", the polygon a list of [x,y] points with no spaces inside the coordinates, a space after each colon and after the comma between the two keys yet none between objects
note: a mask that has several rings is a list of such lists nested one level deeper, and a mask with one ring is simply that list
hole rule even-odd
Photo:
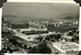
[{"label": "pale flat rooftop of the large building in the lower right corner", "polygon": [[79,51],[79,44],[73,42],[56,42],[53,46],[62,52]]}]

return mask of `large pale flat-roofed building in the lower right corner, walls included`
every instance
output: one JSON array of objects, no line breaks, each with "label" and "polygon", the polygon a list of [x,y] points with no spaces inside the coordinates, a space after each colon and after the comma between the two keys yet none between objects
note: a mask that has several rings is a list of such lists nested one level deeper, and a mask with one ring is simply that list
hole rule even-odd
[{"label": "large pale flat-roofed building in the lower right corner, walls included", "polygon": [[[51,45],[59,54],[78,54],[79,44],[73,42],[56,42]],[[53,52],[55,51],[53,48]]]}]

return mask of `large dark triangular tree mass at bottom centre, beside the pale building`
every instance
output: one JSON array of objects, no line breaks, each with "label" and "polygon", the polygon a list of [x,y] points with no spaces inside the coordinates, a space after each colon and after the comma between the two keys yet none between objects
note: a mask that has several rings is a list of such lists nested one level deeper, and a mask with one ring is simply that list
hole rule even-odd
[{"label": "large dark triangular tree mass at bottom centre, beside the pale building", "polygon": [[38,46],[33,47],[28,53],[38,53],[38,54],[50,54],[51,51],[47,46],[46,42],[40,43]]}]

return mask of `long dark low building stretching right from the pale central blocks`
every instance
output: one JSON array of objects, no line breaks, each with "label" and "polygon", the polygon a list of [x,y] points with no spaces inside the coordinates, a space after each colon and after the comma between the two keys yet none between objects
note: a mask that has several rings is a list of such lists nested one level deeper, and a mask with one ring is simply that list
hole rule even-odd
[{"label": "long dark low building stretching right from the pale central blocks", "polygon": [[77,30],[78,26],[72,26],[72,25],[69,25],[68,23],[67,24],[60,24],[60,23],[50,23],[48,24],[47,26],[47,31],[49,32],[68,32],[70,30]]}]

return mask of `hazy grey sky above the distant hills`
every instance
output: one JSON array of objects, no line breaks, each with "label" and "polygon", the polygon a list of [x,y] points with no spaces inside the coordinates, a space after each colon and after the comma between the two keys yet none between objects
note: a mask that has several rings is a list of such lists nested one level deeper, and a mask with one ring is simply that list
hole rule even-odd
[{"label": "hazy grey sky above the distant hills", "polygon": [[15,15],[20,19],[55,19],[60,15],[78,15],[76,3],[34,3],[8,2],[3,6],[3,15]]}]

